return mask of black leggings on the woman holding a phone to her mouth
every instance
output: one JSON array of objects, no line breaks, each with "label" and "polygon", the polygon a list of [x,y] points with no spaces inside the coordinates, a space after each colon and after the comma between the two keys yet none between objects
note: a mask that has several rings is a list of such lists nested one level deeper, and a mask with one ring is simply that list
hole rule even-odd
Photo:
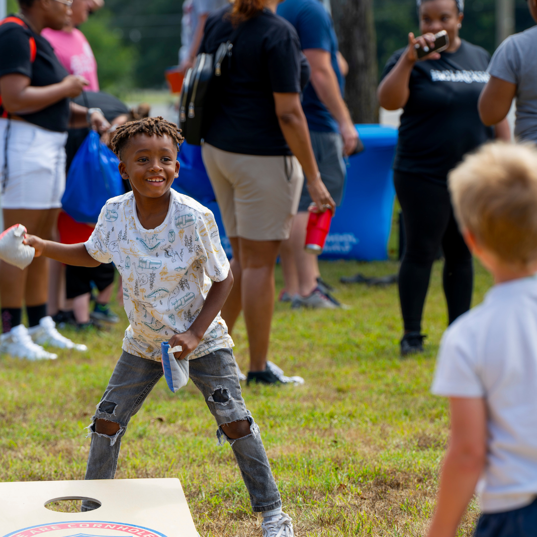
[{"label": "black leggings on the woman holding a phone to her mouth", "polygon": [[470,309],[474,271],[445,185],[419,175],[394,172],[407,247],[399,270],[404,329],[419,332],[434,259],[444,251],[444,293],[449,324]]}]

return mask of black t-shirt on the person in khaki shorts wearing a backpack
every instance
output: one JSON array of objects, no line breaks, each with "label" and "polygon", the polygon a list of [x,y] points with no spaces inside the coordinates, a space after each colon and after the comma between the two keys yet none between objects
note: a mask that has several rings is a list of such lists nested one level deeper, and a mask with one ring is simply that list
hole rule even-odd
[{"label": "black t-shirt on the person in khaki shorts wearing a backpack", "polygon": [[[209,15],[199,52],[214,54],[235,28],[230,7]],[[302,51],[295,29],[269,10],[243,23],[229,68],[213,86],[205,141],[245,155],[291,155],[278,123],[273,92],[300,93]],[[308,76],[306,76],[307,82]]]}]

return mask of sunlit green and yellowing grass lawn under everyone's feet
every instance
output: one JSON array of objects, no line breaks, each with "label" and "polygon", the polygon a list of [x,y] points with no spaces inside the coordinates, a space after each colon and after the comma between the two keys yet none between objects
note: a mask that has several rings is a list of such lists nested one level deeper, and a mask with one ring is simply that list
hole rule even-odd
[{"label": "sunlit green and yellowing grass lawn under everyone's feet", "polygon": [[[339,277],[385,275],[395,262],[322,263],[348,310],[292,311],[277,304],[270,359],[300,387],[243,386],[261,429],[284,510],[306,535],[423,535],[434,506],[448,437],[446,401],[430,395],[446,307],[436,263],[425,309],[426,352],[402,360],[397,290],[342,285]],[[281,288],[277,269],[277,287]],[[476,266],[474,303],[491,278]],[[114,308],[118,311],[117,306]],[[122,311],[122,310],[121,310]],[[0,357],[0,481],[82,479],[90,441],[84,427],[121,352],[125,314],[110,330],[66,335],[89,351],[27,362]],[[242,320],[235,354],[247,370]],[[176,395],[158,382],[131,420],[117,477],[179,477],[204,537],[260,535],[229,445],[192,383]],[[472,505],[460,530],[470,535]]]}]

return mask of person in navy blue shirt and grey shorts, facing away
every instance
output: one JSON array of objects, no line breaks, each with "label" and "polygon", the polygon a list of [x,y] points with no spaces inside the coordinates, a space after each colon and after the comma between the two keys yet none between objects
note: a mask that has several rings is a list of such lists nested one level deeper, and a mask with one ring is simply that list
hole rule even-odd
[{"label": "person in navy blue shirt and grey shorts, facing away", "polygon": [[[346,178],[343,156],[353,153],[358,133],[343,100],[343,75],[348,68],[338,52],[332,19],[319,0],[285,0],[277,13],[295,27],[311,67],[302,108],[321,178],[336,205],[340,205]],[[280,247],[286,284],[280,300],[292,301],[294,308],[336,308],[340,304],[323,285],[317,257],[304,251],[310,204],[304,185],[291,236]]]}]

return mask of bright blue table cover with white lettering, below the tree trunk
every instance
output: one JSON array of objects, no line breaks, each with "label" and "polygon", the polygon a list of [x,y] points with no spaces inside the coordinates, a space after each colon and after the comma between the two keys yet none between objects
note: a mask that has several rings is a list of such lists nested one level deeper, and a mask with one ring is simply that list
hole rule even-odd
[{"label": "bright blue table cover with white lettering, below the tree trunk", "polygon": [[343,203],[326,237],[322,259],[388,259],[395,188],[391,166],[397,129],[357,125],[364,151],[349,158]]}]

